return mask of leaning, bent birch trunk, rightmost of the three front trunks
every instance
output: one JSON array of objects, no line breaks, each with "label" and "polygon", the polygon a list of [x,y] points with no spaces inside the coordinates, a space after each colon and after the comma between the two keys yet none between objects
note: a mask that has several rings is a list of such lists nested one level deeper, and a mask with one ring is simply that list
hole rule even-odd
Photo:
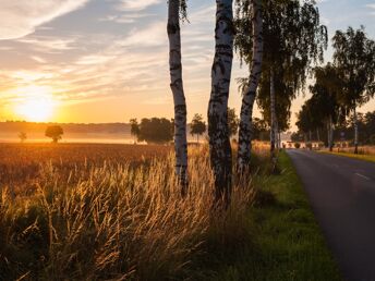
[{"label": "leaning, bent birch trunk, rightmost of the three front trunks", "polygon": [[240,172],[250,170],[252,138],[253,138],[253,108],[256,89],[262,74],[263,60],[263,16],[262,0],[252,0],[253,24],[253,61],[250,72],[247,89],[243,93],[240,114],[238,169]]}]

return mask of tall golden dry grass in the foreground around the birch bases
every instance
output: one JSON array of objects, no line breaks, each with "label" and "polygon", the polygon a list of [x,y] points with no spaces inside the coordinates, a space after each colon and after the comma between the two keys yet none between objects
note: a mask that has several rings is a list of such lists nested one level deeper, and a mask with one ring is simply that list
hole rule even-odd
[{"label": "tall golden dry grass in the foreground around the birch bases", "polygon": [[0,279],[188,280],[210,251],[249,240],[251,181],[235,180],[231,206],[213,208],[206,147],[190,150],[185,198],[171,155],[61,169],[43,164],[32,195],[1,188]]}]

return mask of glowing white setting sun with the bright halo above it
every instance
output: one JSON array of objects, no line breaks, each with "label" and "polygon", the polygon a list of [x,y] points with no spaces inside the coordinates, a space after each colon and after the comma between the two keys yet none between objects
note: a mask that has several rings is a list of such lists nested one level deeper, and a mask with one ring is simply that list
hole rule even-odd
[{"label": "glowing white setting sun with the bright halo above it", "polygon": [[46,122],[53,115],[55,102],[50,91],[44,87],[28,87],[28,96],[22,99],[14,112],[29,122]]}]

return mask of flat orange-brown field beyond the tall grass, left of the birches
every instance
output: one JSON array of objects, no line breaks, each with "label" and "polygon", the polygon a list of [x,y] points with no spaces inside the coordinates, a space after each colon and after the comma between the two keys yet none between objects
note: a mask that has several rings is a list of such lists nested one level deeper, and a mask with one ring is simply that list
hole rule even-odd
[{"label": "flat orange-brown field beyond the tall grass, left of the birches", "polygon": [[52,163],[61,175],[104,162],[141,166],[170,151],[170,146],[157,145],[0,144],[0,185],[28,194],[38,181],[43,164]]}]

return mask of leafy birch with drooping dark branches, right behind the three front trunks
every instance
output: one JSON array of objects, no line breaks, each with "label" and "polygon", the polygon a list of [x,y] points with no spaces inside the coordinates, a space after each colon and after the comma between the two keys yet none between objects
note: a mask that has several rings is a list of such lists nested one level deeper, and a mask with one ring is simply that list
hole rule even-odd
[{"label": "leafy birch with drooping dark branches, right behind the three front trunks", "polygon": [[[313,62],[323,61],[323,52],[327,47],[327,29],[319,23],[319,12],[315,1],[306,0],[268,0],[263,1],[263,71],[259,89],[268,91],[273,107],[269,110],[270,117],[270,143],[273,161],[276,162],[275,144],[278,133],[277,120],[275,115],[277,100],[276,83],[283,83],[290,95],[282,96],[282,99],[293,99],[298,90],[305,85],[306,76]],[[239,13],[238,13],[239,14]],[[252,26],[246,17],[237,16],[237,26],[240,29]],[[252,62],[251,35],[244,36],[244,32],[239,30],[240,36],[235,39],[235,47],[241,59],[250,65]],[[263,78],[268,75],[269,78]]]}]

